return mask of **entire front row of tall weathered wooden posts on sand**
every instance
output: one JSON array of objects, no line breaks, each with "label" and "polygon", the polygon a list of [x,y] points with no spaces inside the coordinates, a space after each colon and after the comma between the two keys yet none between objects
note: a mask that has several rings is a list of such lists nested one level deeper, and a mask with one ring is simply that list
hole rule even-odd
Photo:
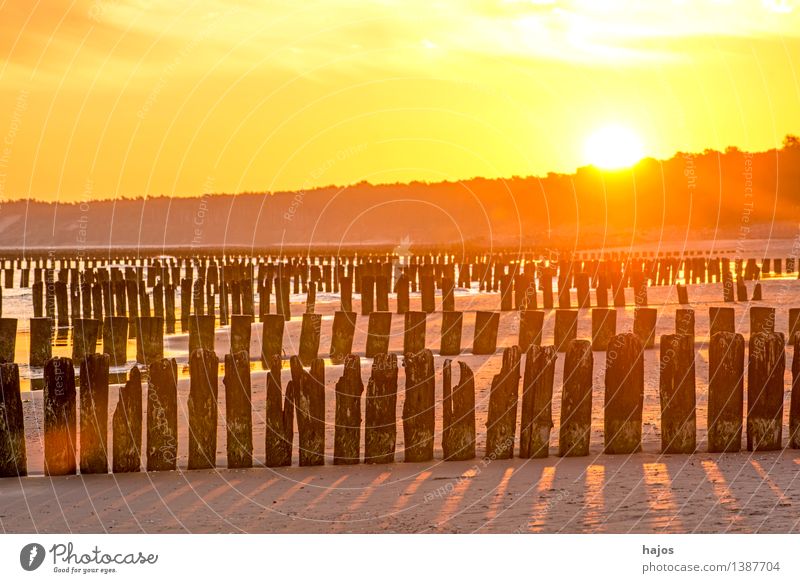
[{"label": "entire front row of tall weathered wooden posts on sand", "polygon": [[[792,391],[789,446],[800,448],[800,334],[791,343]],[[784,336],[757,332],[750,336],[745,371],[745,341],[733,332],[716,332],[709,349],[708,450],[734,452],[741,448],[747,378],[746,437],[751,451],[783,446]],[[514,456],[547,457],[553,427],[553,379],[557,353],[553,346],[518,346],[503,352],[502,368],[491,384],[486,420],[488,459]],[[694,340],[687,334],[661,337],[659,396],[661,449],[664,453],[693,453],[696,442]],[[564,381],[558,453],[589,454],[594,356],[587,340],[572,340],[564,358]],[[45,365],[44,470],[46,475],[106,473],[109,469],[108,401],[109,356],[90,354],[80,362],[76,390],[74,362],[55,357]],[[475,383],[469,366],[459,362],[453,384],[451,361],[442,371],[443,401],[436,403],[433,354],[422,350],[404,356],[405,399],[402,409],[403,459],[433,459],[436,408],[442,409],[441,447],[445,460],[468,460],[476,455]],[[214,468],[218,421],[217,355],[197,349],[189,358],[187,403],[189,469]],[[325,462],[325,365],[315,359],[306,370],[291,358],[291,381],[281,383],[281,359],[271,358],[266,379],[264,464],[292,463],[294,423],[297,422],[299,464]],[[522,395],[520,403],[520,378]],[[177,363],[161,359],[147,368],[146,403],[142,402],[139,368],[119,391],[112,425],[110,451],[114,472],[141,469],[143,412],[147,471],[174,470],[178,458]],[[227,466],[253,466],[251,377],[247,353],[224,359]],[[360,357],[344,359],[335,386],[334,464],[391,463],[395,460],[398,362],[394,354],[376,355],[362,404],[364,384]],[[0,476],[27,475],[25,427],[17,364],[0,365]],[[631,454],[640,450],[644,402],[643,346],[632,333],[618,334],[606,352],[604,451]],[[363,406],[362,406],[363,405]],[[519,415],[517,409],[521,409]],[[80,409],[80,427],[77,410]],[[362,409],[364,417],[362,418]],[[364,454],[361,431],[364,427]]]}]

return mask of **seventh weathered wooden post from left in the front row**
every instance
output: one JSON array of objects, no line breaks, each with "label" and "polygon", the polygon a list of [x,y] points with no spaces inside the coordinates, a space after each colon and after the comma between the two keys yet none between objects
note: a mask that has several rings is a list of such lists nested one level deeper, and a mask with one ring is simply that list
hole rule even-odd
[{"label": "seventh weathered wooden post from left in the front row", "polygon": [[241,350],[225,355],[225,430],[229,469],[253,467],[253,415],[250,355]]}]

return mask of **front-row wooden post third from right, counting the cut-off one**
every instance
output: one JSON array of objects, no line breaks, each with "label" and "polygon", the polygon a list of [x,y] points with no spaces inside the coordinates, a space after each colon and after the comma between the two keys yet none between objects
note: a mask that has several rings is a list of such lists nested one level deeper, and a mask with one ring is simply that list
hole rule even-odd
[{"label": "front-row wooden post third from right, counting the cut-off one", "polygon": [[744,409],[744,338],[741,334],[717,332],[711,336],[708,375],[708,451],[739,451]]}]

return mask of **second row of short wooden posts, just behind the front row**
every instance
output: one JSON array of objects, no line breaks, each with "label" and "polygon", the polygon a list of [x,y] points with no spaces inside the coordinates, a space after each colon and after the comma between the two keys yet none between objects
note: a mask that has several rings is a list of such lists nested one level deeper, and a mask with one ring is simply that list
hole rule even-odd
[{"label": "second row of short wooden posts, just behind the front row", "polygon": [[[541,345],[546,313],[542,310],[522,310],[517,313],[517,346],[524,352],[531,345]],[[750,334],[775,331],[775,308],[752,306],[749,309]],[[787,338],[800,332],[800,308],[790,308]],[[410,311],[404,315],[403,353],[417,353],[428,347],[426,341],[427,314]],[[442,312],[441,334],[438,354],[457,356],[462,352],[463,312]],[[655,345],[656,308],[636,308],[633,316],[632,332],[645,348]],[[192,315],[187,319],[189,329],[189,351],[197,348],[216,350],[215,319],[211,315]],[[358,317],[355,312],[338,311],[334,313],[331,329],[331,345],[328,357],[334,364],[341,364],[344,358],[354,352],[353,342]],[[555,310],[553,346],[557,352],[566,350],[568,343],[579,337],[579,312],[577,310]],[[249,354],[251,332],[254,318],[248,315],[234,315],[230,326],[230,350],[232,353],[245,351]],[[606,350],[610,339],[617,334],[617,311],[613,308],[592,308],[592,349]],[[273,354],[284,354],[285,319],[281,315],[261,316],[261,353],[265,368]],[[715,332],[735,332],[735,311],[728,307],[709,308],[709,336]],[[500,324],[499,312],[475,312],[475,326],[472,340],[472,354],[494,354]],[[391,339],[392,313],[372,312],[368,316],[366,346],[363,353],[367,358],[389,352]],[[14,362],[16,352],[17,320],[0,319],[0,362]],[[675,311],[675,331],[678,334],[695,336],[695,313],[693,309],[679,308]],[[30,320],[29,364],[42,367],[52,356],[53,323],[49,318]],[[305,313],[300,329],[297,354],[304,366],[308,366],[320,354],[322,316]],[[164,321],[157,317],[137,317],[131,322],[125,316],[106,317],[102,322],[91,318],[74,320],[72,330],[72,358],[80,361],[85,354],[97,351],[98,340],[102,339],[102,352],[108,354],[113,367],[128,362],[128,338],[136,338],[136,362],[148,364],[164,356]]]}]

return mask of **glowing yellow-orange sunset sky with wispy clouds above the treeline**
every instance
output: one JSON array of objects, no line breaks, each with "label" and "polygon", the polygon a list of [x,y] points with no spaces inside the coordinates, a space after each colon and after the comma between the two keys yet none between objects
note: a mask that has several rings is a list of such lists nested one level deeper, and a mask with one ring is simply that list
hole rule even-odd
[{"label": "glowing yellow-orange sunset sky with wispy clouds above the treeline", "polygon": [[656,158],[800,134],[800,0],[0,0],[0,56],[0,204],[572,172],[609,125]]}]

